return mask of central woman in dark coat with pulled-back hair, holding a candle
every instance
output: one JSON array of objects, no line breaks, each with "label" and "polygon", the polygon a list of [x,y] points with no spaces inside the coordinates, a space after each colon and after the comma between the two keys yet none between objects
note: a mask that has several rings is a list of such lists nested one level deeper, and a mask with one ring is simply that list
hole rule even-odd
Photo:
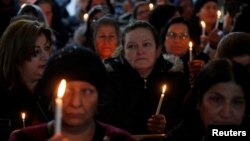
[{"label": "central woman in dark coat with pulled-back hair, holding a candle", "polygon": [[[171,128],[180,118],[188,81],[160,57],[158,34],[148,22],[129,24],[121,44],[118,57],[105,60],[109,85],[99,116],[132,134],[164,133],[166,126]],[[155,114],[164,83],[167,96],[160,114]]]}]

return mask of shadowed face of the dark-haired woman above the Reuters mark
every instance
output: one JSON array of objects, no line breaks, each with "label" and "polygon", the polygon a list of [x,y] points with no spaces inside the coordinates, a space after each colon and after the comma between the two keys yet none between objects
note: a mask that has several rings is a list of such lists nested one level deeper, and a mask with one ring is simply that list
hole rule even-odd
[{"label": "shadowed face of the dark-haired woman above the Reuters mark", "polygon": [[239,125],[245,114],[245,97],[242,88],[233,82],[213,85],[200,105],[201,119],[208,125]]}]

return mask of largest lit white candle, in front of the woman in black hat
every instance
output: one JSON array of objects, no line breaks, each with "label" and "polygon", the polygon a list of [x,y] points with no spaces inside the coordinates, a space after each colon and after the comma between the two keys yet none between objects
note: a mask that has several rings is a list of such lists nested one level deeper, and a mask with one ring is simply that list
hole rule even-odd
[{"label": "largest lit white candle, in front of the woman in black hat", "polygon": [[56,109],[55,109],[55,134],[61,132],[61,122],[62,122],[62,97],[64,95],[66,89],[66,80],[62,79],[60,85],[58,87],[57,98],[56,102]]}]

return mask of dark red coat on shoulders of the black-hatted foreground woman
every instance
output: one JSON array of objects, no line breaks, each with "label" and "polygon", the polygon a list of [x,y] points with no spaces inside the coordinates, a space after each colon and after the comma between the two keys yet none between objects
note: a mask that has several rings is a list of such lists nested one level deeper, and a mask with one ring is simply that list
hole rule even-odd
[{"label": "dark red coat on shoulders of the black-hatted foreground woman", "polygon": [[[13,132],[8,141],[45,141],[53,136],[51,124],[39,124]],[[96,122],[93,141],[134,141],[132,136],[122,129],[109,124]]]}]

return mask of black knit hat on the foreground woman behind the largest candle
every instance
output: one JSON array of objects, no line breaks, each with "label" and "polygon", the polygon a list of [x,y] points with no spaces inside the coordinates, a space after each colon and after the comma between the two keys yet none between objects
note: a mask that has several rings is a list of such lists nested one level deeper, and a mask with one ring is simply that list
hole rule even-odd
[{"label": "black knit hat on the foreground woman behind the largest candle", "polygon": [[37,89],[41,95],[51,98],[53,90],[62,79],[89,82],[100,94],[106,83],[106,69],[96,53],[71,45],[56,51],[51,56]]}]

